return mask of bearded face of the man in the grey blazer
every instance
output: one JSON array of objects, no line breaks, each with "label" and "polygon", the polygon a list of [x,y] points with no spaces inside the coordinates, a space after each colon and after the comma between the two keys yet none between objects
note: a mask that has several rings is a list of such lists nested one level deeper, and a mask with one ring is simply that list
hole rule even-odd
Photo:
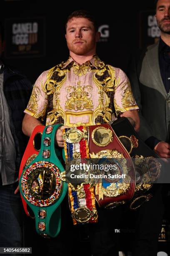
[{"label": "bearded face of the man in the grey blazer", "polygon": [[170,34],[170,0],[158,0],[155,16],[160,31]]}]

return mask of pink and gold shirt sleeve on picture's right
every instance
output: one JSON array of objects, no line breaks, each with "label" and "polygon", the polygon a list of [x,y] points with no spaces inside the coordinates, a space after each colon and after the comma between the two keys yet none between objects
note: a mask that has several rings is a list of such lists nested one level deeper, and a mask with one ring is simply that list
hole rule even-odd
[{"label": "pink and gold shirt sleeve on picture's right", "polygon": [[133,97],[129,79],[121,69],[115,70],[114,90],[114,106],[116,115],[120,115],[120,113],[127,110],[139,109]]}]

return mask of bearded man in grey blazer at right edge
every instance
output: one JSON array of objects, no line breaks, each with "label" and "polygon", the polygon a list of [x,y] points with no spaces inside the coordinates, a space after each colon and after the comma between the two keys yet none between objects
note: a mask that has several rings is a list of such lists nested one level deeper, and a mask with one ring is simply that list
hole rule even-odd
[{"label": "bearded man in grey blazer at right edge", "polygon": [[163,158],[170,157],[170,0],[157,0],[160,40],[147,48],[129,74],[140,107],[139,135]]}]

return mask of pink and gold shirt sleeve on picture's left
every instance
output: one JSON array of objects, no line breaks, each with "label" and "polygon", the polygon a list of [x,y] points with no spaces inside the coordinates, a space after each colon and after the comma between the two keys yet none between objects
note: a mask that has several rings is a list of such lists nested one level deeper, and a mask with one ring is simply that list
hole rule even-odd
[{"label": "pink and gold shirt sleeve on picture's left", "polygon": [[44,121],[48,105],[48,97],[45,90],[47,73],[48,71],[45,71],[37,78],[27,108],[24,111],[40,121]]}]

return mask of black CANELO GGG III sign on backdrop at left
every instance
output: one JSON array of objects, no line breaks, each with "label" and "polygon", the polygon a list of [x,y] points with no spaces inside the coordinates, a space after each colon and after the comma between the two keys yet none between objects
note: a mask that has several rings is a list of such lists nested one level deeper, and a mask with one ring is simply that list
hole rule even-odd
[{"label": "black CANELO GGG III sign on backdrop at left", "polygon": [[6,58],[45,55],[45,21],[43,17],[5,20]]}]

